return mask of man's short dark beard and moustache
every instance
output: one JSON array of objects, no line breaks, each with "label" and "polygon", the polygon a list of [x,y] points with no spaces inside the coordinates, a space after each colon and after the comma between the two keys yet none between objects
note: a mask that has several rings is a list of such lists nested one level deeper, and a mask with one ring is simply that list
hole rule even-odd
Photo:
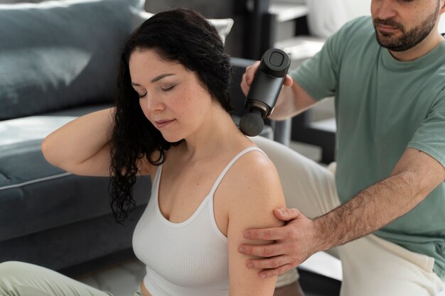
[{"label": "man's short dark beard and moustache", "polygon": [[[374,19],[375,36],[377,37],[377,42],[380,46],[387,48],[392,51],[404,51],[414,48],[417,44],[421,43],[422,40],[427,38],[427,35],[431,33],[436,24],[437,16],[439,16],[439,5],[436,7],[436,11],[431,13],[427,19],[419,26],[412,28],[410,31],[406,32],[404,26],[401,23],[393,21],[392,18],[387,18],[382,20],[381,18]],[[398,28],[402,31],[402,36],[396,38],[392,37],[392,33],[381,33],[377,31],[377,25],[382,24],[385,26],[392,26]]]}]

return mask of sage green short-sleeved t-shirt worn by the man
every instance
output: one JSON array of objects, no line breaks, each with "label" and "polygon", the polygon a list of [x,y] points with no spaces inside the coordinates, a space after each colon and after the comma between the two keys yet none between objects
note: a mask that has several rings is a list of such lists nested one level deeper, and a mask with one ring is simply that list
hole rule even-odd
[{"label": "sage green short-sleeved t-shirt worn by the man", "polygon": [[[406,148],[445,166],[445,42],[400,62],[375,37],[370,17],[351,21],[291,73],[314,99],[335,97],[336,183],[342,203],[389,177]],[[445,182],[375,232],[433,257],[445,278]]]}]

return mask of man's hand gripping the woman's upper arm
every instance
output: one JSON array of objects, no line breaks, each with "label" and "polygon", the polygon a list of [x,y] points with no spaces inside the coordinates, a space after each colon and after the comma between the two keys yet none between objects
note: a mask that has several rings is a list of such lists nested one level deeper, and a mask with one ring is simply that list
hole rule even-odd
[{"label": "man's hand gripping the woman's upper arm", "polygon": [[266,257],[246,262],[248,268],[261,270],[261,278],[281,275],[320,251],[316,241],[318,234],[311,219],[301,214],[298,209],[275,209],[274,214],[288,223],[282,227],[248,229],[242,233],[245,239],[262,239],[272,243],[264,246],[242,244],[238,248],[238,251],[245,255]]}]

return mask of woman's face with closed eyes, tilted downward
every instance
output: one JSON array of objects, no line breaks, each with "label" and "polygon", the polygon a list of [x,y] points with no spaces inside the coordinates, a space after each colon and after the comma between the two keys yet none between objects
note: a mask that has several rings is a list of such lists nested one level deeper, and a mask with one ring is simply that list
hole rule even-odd
[{"label": "woman's face with closed eyes, tilted downward", "polygon": [[213,99],[181,63],[163,60],[154,50],[136,49],[129,70],[144,115],[166,141],[187,138],[210,119]]}]

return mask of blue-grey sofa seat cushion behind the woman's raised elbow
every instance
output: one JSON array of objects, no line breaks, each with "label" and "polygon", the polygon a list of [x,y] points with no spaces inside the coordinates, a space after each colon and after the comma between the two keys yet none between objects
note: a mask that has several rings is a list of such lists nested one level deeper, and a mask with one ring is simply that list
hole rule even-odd
[{"label": "blue-grey sofa seat cushion behind the woman's raised elbow", "polygon": [[[43,138],[55,128],[105,107],[0,121],[0,242],[110,214],[109,177],[73,175],[50,165],[41,152]],[[142,206],[151,182],[138,179],[134,199]]]}]

